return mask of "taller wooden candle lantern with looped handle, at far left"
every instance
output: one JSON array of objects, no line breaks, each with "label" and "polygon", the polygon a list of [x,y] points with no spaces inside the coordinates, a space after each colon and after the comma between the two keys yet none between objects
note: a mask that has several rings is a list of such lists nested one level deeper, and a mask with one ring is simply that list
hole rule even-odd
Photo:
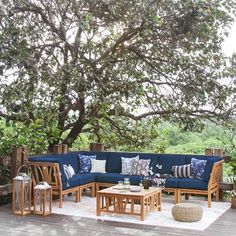
[{"label": "taller wooden candle lantern with looped handle, at far left", "polygon": [[[26,170],[22,172],[22,170]],[[31,169],[22,165],[13,179],[12,185],[12,211],[14,214],[28,215],[31,213],[32,179]]]}]

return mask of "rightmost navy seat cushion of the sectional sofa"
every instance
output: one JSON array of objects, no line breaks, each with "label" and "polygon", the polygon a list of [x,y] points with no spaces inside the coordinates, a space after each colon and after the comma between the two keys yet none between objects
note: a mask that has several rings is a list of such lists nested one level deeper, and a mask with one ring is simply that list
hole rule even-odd
[{"label": "rightmost navy seat cushion of the sectional sofa", "polygon": [[178,179],[178,188],[207,190],[208,183],[201,179]]}]

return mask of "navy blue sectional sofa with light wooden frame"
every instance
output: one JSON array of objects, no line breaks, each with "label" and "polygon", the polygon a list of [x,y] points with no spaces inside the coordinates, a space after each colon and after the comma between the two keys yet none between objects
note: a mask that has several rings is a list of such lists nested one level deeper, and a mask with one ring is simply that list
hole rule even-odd
[{"label": "navy blue sectional sofa with light wooden frame", "polygon": [[[107,173],[80,173],[78,154],[96,155],[97,160],[106,160]],[[217,156],[205,155],[179,155],[179,154],[155,154],[138,152],[90,152],[78,151],[67,154],[54,154],[34,156],[29,158],[29,165],[33,171],[34,183],[47,181],[53,187],[53,194],[59,195],[59,207],[62,207],[63,195],[76,193],[76,201],[80,201],[84,189],[91,188],[91,195],[95,196],[100,187],[108,187],[117,184],[125,177],[130,178],[132,185],[139,185],[142,176],[122,175],[121,157],[131,158],[139,155],[139,159],[150,159],[150,167],[154,173],[172,174],[172,166],[190,164],[192,158],[207,160],[202,179],[174,178],[166,179],[165,191],[174,192],[175,203],[180,202],[181,193],[201,194],[208,196],[208,206],[211,207],[211,197],[215,194],[219,200],[219,180],[223,160]],[[70,164],[75,175],[67,179],[63,169],[64,164]],[[162,165],[161,169],[157,164]]]}]

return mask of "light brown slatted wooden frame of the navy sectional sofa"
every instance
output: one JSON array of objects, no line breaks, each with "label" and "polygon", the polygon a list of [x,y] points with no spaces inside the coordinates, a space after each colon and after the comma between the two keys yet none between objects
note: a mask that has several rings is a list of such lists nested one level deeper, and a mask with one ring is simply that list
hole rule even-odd
[{"label": "light brown slatted wooden frame of the navy sectional sofa", "polygon": [[[212,167],[210,179],[207,190],[198,189],[179,189],[166,188],[166,192],[174,193],[175,204],[181,201],[181,194],[199,194],[206,195],[208,199],[208,207],[211,207],[212,194],[215,194],[216,201],[219,201],[219,182],[222,175],[223,160],[215,162]],[[41,181],[48,182],[52,186],[52,194],[59,196],[59,207],[62,207],[63,196],[69,193],[75,193],[75,201],[81,200],[81,195],[84,189],[91,189],[91,197],[96,196],[96,192],[102,187],[110,187],[115,184],[112,183],[98,183],[92,182],[74,188],[62,190],[61,172],[58,163],[53,162],[28,162],[33,173],[33,185],[37,185]]]}]

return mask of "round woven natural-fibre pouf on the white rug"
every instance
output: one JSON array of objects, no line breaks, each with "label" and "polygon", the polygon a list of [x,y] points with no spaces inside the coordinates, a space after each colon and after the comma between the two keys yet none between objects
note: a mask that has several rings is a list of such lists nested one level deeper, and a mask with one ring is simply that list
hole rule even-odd
[{"label": "round woven natural-fibre pouf on the white rug", "polygon": [[195,222],[201,220],[202,207],[193,203],[179,203],[172,208],[172,216],[177,221]]}]

